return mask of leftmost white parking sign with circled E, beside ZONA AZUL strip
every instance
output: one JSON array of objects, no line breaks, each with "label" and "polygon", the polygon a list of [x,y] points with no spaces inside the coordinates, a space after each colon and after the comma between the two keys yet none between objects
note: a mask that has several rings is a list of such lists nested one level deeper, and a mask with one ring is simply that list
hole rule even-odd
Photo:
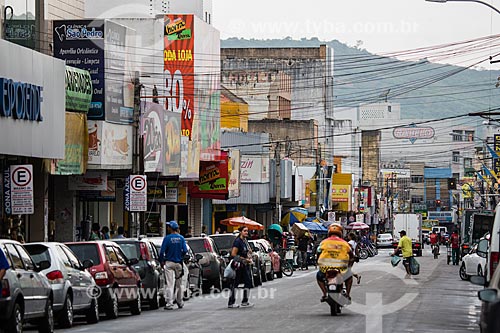
[{"label": "leftmost white parking sign with circled E, beside ZONA AZUL strip", "polygon": [[10,166],[12,214],[33,214],[33,166]]}]

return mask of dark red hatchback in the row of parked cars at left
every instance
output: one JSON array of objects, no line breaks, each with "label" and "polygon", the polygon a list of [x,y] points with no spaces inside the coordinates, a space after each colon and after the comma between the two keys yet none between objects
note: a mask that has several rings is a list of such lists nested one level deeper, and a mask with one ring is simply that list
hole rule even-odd
[{"label": "dark red hatchback in the row of parked cars at left", "polygon": [[132,267],[137,259],[128,259],[118,244],[111,241],[66,243],[80,261],[92,260],[90,274],[99,287],[99,309],[108,318],[118,317],[119,307],[130,308],[133,315],[142,311],[141,278]]}]

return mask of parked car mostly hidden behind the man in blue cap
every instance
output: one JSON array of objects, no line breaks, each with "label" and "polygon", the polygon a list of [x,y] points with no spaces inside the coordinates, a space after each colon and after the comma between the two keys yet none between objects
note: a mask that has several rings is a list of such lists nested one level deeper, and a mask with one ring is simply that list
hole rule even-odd
[{"label": "parked car mostly hidden behind the man in blue cap", "polygon": [[[163,237],[150,237],[148,238],[158,251],[158,255],[161,250],[161,244],[163,243]],[[203,271],[199,260],[203,257],[201,255],[195,255],[189,244],[186,242],[188,248],[187,255],[189,258],[184,259],[184,271],[188,274],[184,274],[182,277],[182,285],[184,287],[184,300],[189,299],[193,292],[200,292],[203,285]]]}]

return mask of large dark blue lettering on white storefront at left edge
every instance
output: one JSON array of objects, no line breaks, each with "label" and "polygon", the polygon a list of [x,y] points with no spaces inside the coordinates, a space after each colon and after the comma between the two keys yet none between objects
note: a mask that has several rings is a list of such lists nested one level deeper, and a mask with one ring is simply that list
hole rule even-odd
[{"label": "large dark blue lettering on white storefront at left edge", "polygon": [[0,77],[0,117],[43,121],[43,87]]}]

